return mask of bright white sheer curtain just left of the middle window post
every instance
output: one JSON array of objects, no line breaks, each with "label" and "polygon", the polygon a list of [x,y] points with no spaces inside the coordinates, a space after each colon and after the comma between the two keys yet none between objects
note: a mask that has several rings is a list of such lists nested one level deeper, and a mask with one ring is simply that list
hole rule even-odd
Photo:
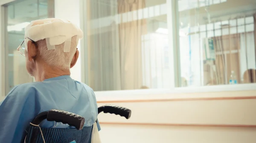
[{"label": "bright white sheer curtain just left of the middle window post", "polygon": [[143,86],[169,88],[170,69],[167,34],[149,33],[142,36],[142,72]]}]

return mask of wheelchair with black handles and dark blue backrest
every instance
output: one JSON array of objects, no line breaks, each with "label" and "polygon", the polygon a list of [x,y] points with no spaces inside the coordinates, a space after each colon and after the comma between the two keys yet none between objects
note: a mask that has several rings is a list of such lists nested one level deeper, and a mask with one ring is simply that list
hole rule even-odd
[{"label": "wheelchair with black handles and dark blue backrest", "polygon": [[[130,109],[111,104],[99,107],[98,114],[101,112],[120,115],[126,119],[131,117]],[[47,119],[47,121],[69,124],[75,128],[57,129],[33,126],[39,125],[45,119]],[[98,122],[98,120],[96,122]],[[26,143],[44,143],[44,140],[45,143],[71,143],[74,140],[76,143],[91,143],[93,126],[84,126],[84,118],[74,113],[51,109],[38,114],[31,123],[33,125],[31,124],[29,126],[29,130],[25,138]]]}]

